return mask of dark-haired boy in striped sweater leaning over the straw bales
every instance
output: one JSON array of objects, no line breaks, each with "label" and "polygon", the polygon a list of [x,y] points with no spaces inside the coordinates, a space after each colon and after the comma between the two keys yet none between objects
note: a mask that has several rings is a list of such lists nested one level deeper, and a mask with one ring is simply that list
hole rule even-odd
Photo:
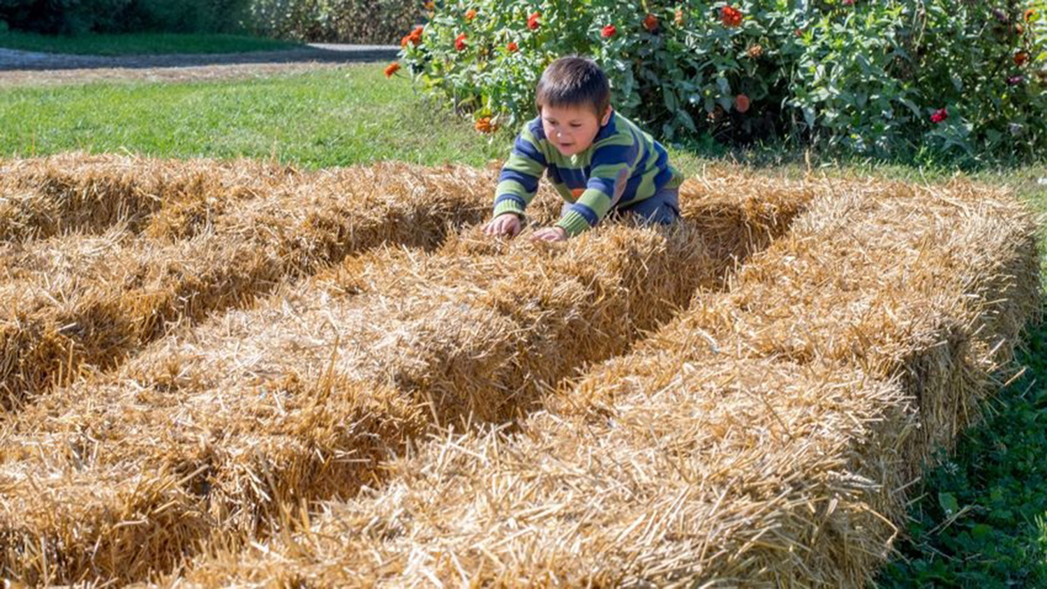
[{"label": "dark-haired boy in striped sweater leaning over the straw bales", "polygon": [[519,233],[524,210],[544,172],[566,204],[553,227],[532,239],[559,242],[611,211],[647,223],[680,218],[681,178],[658,141],[610,108],[607,76],[592,60],[556,60],[541,74],[538,117],[516,138],[495,189],[488,235]]}]

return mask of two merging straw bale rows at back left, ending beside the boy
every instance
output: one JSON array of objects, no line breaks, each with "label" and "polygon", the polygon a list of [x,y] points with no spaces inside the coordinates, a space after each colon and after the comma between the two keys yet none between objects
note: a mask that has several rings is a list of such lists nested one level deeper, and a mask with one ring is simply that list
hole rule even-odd
[{"label": "two merging straw bale rows at back left, ending beside the boy", "polygon": [[[82,367],[112,368],[173,324],[242,307],[350,253],[436,247],[448,227],[487,214],[493,181],[465,167],[303,174],[114,156],[3,167],[0,198],[35,190],[4,201],[0,219],[24,237],[0,250],[8,301],[0,406],[8,410]],[[61,233],[70,229],[80,232]]]}]

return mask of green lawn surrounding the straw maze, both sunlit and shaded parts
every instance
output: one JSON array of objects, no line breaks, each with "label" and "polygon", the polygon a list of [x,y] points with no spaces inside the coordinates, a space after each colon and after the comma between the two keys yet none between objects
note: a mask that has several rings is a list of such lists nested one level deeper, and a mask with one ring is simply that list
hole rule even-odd
[{"label": "green lawn surrounding the straw maze, both sunlit and shaded parts", "polygon": [[[506,130],[487,137],[425,104],[382,66],[352,66],[294,76],[199,84],[94,84],[0,90],[0,156],[68,150],[162,157],[245,156],[303,167],[398,159],[484,165],[506,156]],[[671,150],[687,175],[714,156]],[[719,156],[717,156],[719,157]],[[767,174],[807,172],[802,154],[760,160]],[[817,160],[816,173],[872,175],[911,182],[955,172],[862,161]],[[972,177],[1009,184],[1047,212],[1047,164],[983,169]],[[1045,244],[1047,246],[1047,244]],[[1047,275],[1047,272],[1045,272]],[[1047,326],[1030,326],[1019,360],[1028,366],[987,404],[986,421],[957,452],[927,473],[910,511],[911,540],[883,570],[883,587],[1047,586]]]}]

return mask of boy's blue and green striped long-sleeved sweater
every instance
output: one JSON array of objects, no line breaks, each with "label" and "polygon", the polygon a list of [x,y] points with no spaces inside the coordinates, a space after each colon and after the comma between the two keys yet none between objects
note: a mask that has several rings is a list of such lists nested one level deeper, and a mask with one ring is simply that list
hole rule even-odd
[{"label": "boy's blue and green striped long-sleeved sweater", "polygon": [[678,186],[681,177],[661,143],[616,111],[587,150],[564,156],[545,138],[541,117],[527,123],[516,137],[512,155],[502,167],[495,189],[494,216],[522,216],[538,190],[542,172],[571,203],[556,224],[569,235],[595,226],[610,211],[615,179],[628,169],[625,192],[618,206],[648,199],[665,186]]}]

